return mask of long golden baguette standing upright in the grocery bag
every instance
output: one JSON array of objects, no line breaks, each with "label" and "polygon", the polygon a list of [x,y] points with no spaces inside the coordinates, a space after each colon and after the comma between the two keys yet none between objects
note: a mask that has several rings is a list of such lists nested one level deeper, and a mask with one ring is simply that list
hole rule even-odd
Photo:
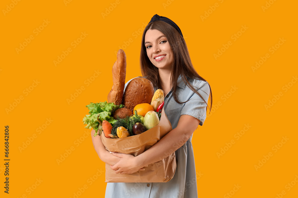
[{"label": "long golden baguette standing upright in the grocery bag", "polygon": [[122,49],[118,50],[117,61],[112,68],[113,86],[108,94],[108,102],[115,105],[122,103],[126,75],[126,55]]}]

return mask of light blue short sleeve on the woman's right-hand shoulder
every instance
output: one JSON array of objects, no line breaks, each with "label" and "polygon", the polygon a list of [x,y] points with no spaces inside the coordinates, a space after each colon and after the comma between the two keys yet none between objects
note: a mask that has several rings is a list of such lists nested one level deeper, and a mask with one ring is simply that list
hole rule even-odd
[{"label": "light blue short sleeve on the woman's right-hand shoulder", "polygon": [[[195,85],[195,88],[208,103],[210,94],[209,83],[206,81],[200,81],[197,85]],[[198,94],[194,93],[193,91],[192,93],[193,94],[190,96],[189,101],[185,103],[180,115],[191,115],[200,120],[201,122],[199,125],[202,126],[206,119],[207,104]]]}]

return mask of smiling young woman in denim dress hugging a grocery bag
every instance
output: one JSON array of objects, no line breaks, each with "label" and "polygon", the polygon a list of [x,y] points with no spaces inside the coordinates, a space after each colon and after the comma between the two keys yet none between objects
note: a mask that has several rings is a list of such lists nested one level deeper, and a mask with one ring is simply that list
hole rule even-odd
[{"label": "smiling young woman in denim dress hugging a grocery bag", "polygon": [[148,164],[160,161],[175,151],[176,172],[166,183],[107,183],[105,197],[198,197],[191,140],[195,129],[198,125],[202,126],[206,119],[208,99],[211,100],[211,111],[209,83],[193,68],[180,28],[159,15],[154,15],[144,30],[140,64],[142,75],[153,83],[155,90],[160,88],[164,91],[163,108],[173,130],[136,157],[110,153],[105,150],[99,136],[91,135],[94,148],[100,159],[119,174],[141,171]]}]

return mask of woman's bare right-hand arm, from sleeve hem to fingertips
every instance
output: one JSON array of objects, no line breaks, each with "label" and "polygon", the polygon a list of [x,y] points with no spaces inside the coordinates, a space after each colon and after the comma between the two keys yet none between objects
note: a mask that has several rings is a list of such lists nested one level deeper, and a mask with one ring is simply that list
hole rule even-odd
[{"label": "woman's bare right-hand arm, from sleeve hem to fingertips", "polygon": [[181,115],[178,126],[172,131],[168,132],[155,145],[150,147],[144,153],[134,157],[123,153],[113,153],[121,160],[111,166],[115,173],[131,174],[140,168],[160,161],[170,154],[174,153],[190,138],[195,129],[198,127],[200,121],[190,115]]}]

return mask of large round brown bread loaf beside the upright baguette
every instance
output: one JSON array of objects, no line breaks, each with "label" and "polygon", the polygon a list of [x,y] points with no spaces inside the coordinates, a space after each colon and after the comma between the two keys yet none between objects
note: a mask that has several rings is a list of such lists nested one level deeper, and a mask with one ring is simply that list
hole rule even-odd
[{"label": "large round brown bread loaf beside the upright baguette", "polygon": [[154,95],[153,84],[150,80],[142,77],[134,78],[125,88],[123,104],[131,111],[137,104],[151,103]]}]

